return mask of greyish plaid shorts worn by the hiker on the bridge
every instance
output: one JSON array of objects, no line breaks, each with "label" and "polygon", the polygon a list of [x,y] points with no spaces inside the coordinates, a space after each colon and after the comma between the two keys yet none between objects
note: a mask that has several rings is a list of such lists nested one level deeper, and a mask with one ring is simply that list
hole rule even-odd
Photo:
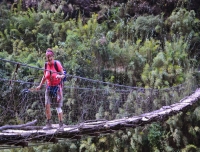
[{"label": "greyish plaid shorts worn by the hiker on the bridge", "polygon": [[61,85],[58,85],[58,88],[56,88],[56,94],[55,92],[52,95],[52,90],[50,87],[46,88],[45,91],[45,105],[51,104],[52,106],[56,108],[61,108],[63,105],[63,92]]}]

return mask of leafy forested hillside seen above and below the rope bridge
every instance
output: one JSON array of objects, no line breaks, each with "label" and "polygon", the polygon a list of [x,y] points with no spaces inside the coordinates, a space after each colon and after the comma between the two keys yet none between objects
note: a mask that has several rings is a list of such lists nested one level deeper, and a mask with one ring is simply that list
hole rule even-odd
[{"label": "leafy forested hillside seen above and below the rope bridge", "polygon": [[[71,75],[154,89],[199,82],[199,0],[0,2],[0,58],[43,68],[45,50],[52,48]],[[1,78],[9,79],[13,71],[10,63],[0,65]],[[43,72],[21,74],[40,82]],[[5,85],[0,102],[9,94]],[[0,119],[1,125],[7,123],[19,122]],[[20,150],[200,151],[199,126],[197,105],[165,122]]]}]

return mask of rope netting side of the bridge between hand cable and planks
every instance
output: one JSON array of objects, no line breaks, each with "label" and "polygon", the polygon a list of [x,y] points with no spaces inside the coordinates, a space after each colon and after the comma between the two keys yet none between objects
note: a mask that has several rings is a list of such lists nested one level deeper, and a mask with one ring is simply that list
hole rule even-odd
[{"label": "rope netting side of the bridge between hand cable and planks", "polygon": [[[43,71],[43,68],[0,59],[1,126],[5,122],[22,124],[35,119],[38,125],[45,124],[45,85],[40,91],[34,91]],[[186,81],[166,89],[145,89],[67,74],[63,89],[64,123],[137,116],[179,102],[196,88],[197,85]],[[52,119],[56,123],[57,112],[54,107],[51,108]]]}]

